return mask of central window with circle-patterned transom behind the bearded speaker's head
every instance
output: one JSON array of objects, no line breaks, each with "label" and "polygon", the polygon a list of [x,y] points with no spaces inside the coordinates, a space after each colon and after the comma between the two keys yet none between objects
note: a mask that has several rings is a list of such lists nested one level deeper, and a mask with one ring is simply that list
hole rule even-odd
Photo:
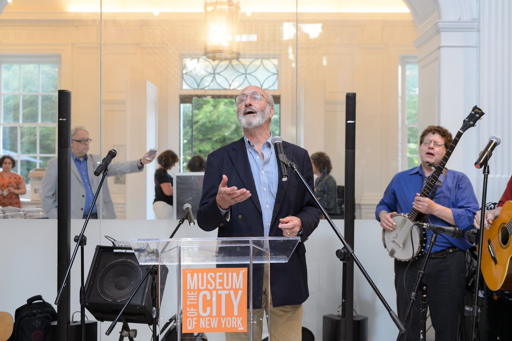
[{"label": "central window with circle-patterned transom behind the bearded speaker's head", "polygon": [[[242,90],[249,85],[278,90],[278,62],[278,58],[182,58],[182,90],[209,90],[211,95],[183,95],[180,98],[181,172],[186,172],[186,164],[192,156],[207,157],[217,148],[243,136],[234,101],[239,92],[233,90]],[[280,135],[280,98],[273,97],[274,116],[270,131]]]}]

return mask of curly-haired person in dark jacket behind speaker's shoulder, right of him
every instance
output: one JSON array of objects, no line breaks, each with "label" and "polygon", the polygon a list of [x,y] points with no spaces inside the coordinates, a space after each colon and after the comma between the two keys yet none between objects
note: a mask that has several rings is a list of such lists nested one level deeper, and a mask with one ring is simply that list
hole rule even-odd
[{"label": "curly-haired person in dark jacket behind speaker's shoulder, right of him", "polygon": [[318,176],[315,180],[315,196],[330,215],[339,215],[338,187],[336,180],[330,174],[331,159],[324,152],[311,154],[313,173]]}]

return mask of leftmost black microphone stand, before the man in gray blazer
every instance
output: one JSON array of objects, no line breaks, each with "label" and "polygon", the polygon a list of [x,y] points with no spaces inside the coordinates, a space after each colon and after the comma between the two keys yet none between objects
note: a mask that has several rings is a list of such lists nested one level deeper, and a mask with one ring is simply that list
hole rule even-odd
[{"label": "leftmost black microphone stand, before the man in gray blazer", "polygon": [[101,186],[103,185],[103,181],[105,180],[107,174],[109,173],[108,167],[105,167],[105,170],[103,171],[103,176],[101,177],[101,181],[99,182],[98,189],[96,190],[96,194],[94,195],[93,203],[91,205],[91,208],[89,208],[89,213],[87,214],[86,221],[83,223],[82,230],[80,232],[80,235],[75,236],[74,241],[76,243],[75,250],[73,251],[73,255],[71,257],[71,261],[69,263],[68,271],[66,271],[66,276],[64,277],[64,280],[62,281],[62,285],[60,286],[59,292],[57,293],[57,298],[55,299],[55,305],[58,306],[60,303],[60,300],[62,299],[62,292],[64,290],[64,287],[66,286],[66,282],[68,281],[68,276],[71,272],[71,267],[73,266],[73,262],[75,261],[76,253],[78,251],[78,247],[80,246],[80,256],[81,256],[81,262],[80,262],[80,271],[81,271],[81,282],[80,282],[80,328],[81,328],[81,334],[82,334],[82,341],[86,341],[86,287],[84,285],[84,278],[83,278],[83,247],[87,245],[87,237],[83,235],[83,232],[86,231],[87,224],[89,223],[89,219],[91,218],[91,214],[94,208],[94,205],[96,205],[96,200],[99,196],[99,191],[101,190]]}]

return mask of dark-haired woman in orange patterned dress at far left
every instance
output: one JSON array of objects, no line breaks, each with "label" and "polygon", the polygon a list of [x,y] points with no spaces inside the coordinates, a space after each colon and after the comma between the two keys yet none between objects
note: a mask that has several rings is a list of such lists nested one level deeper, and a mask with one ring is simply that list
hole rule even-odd
[{"label": "dark-haired woman in orange patterned dress at far left", "polygon": [[22,208],[20,195],[27,193],[23,177],[11,169],[16,166],[16,161],[10,155],[0,158],[2,172],[0,172],[0,206],[13,206]]}]

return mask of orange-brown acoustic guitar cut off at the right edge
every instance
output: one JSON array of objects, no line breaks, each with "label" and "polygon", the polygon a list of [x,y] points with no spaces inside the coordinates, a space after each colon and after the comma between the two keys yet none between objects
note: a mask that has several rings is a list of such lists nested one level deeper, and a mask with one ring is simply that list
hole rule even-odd
[{"label": "orange-brown acoustic guitar cut off at the right edge", "polygon": [[498,218],[483,229],[482,275],[490,290],[512,289],[512,201],[507,201]]}]

